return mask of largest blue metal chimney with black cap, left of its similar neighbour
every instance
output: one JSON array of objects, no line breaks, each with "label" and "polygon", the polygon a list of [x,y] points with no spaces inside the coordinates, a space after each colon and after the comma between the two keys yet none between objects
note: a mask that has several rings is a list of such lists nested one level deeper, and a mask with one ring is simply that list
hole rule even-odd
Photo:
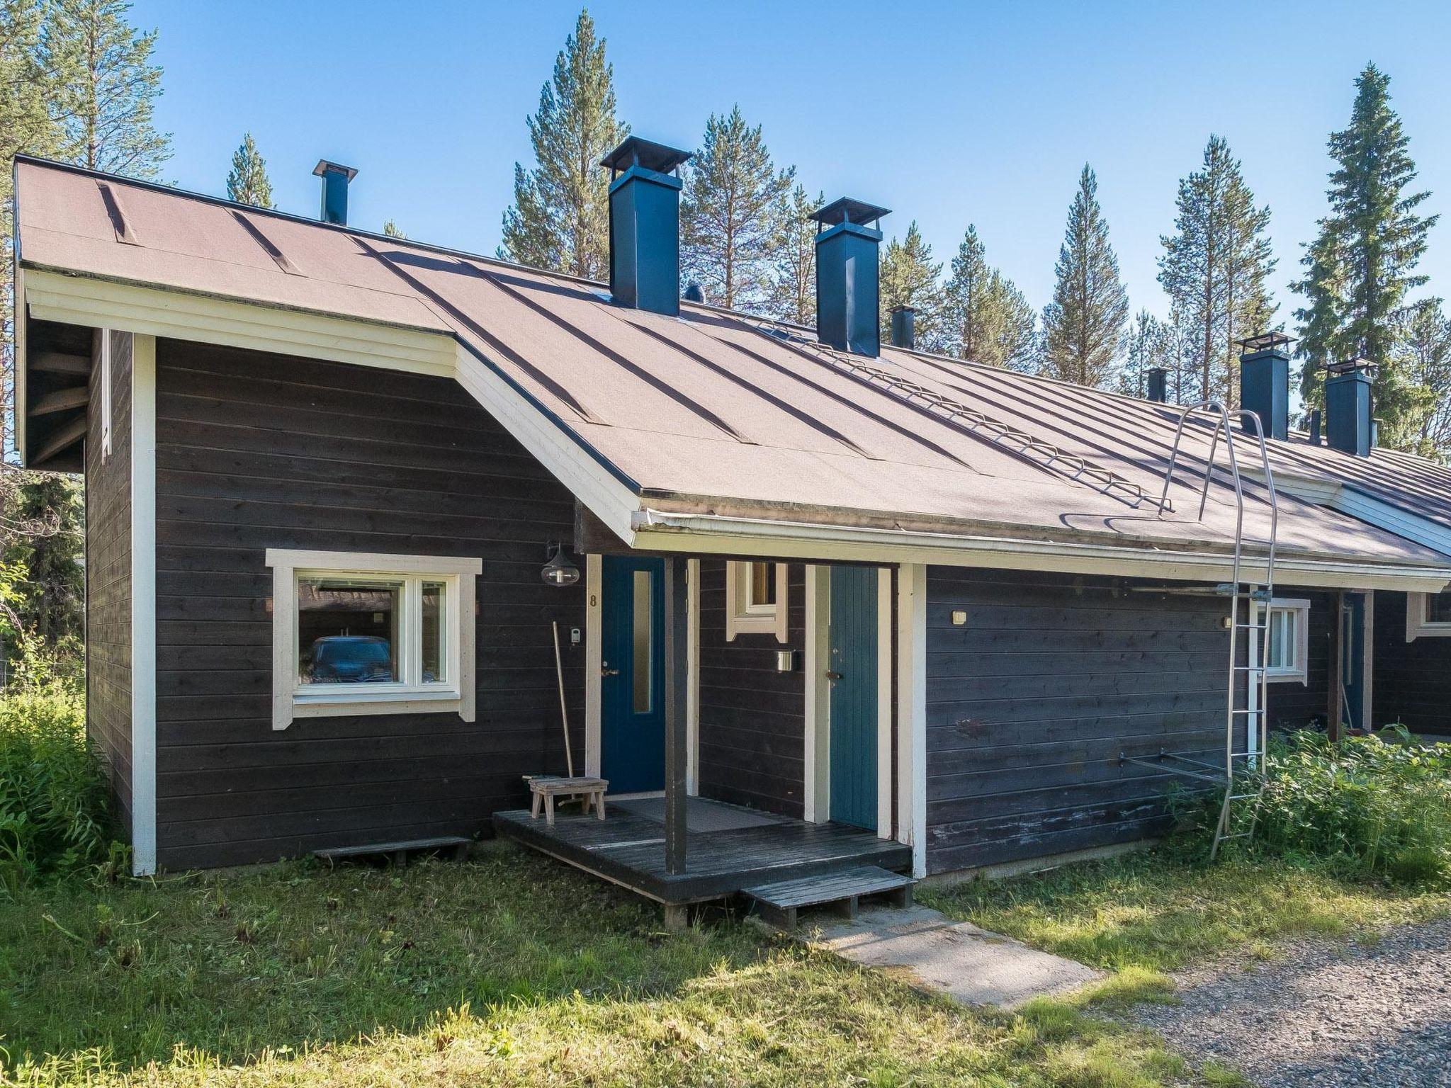
[{"label": "largest blue metal chimney with black cap, left of its similar neighbour", "polygon": [[609,167],[609,293],[622,306],[681,313],[681,178],[670,171],[689,157],[627,136],[599,162]]}]

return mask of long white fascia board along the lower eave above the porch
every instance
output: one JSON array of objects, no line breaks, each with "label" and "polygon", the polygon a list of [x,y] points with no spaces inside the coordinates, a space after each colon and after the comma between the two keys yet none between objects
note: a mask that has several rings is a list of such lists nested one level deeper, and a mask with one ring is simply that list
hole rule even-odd
[{"label": "long white fascia board along the lower eave above the porch", "polygon": [[[969,537],[659,511],[643,511],[636,518],[634,547],[647,551],[801,557],[815,561],[834,559],[859,563],[936,563],[958,567],[1052,570],[1174,582],[1225,582],[1232,576],[1229,556],[1203,551]],[[1262,560],[1246,557],[1242,576],[1262,579]],[[1451,564],[1423,567],[1342,563],[1283,554],[1275,559],[1275,585],[1286,586],[1432,593],[1439,592],[1448,582],[1451,582]]]}]

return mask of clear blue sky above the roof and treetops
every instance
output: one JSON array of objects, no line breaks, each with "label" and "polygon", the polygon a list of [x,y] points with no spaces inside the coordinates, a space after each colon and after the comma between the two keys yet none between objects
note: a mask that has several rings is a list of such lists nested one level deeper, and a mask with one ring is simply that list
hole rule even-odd
[{"label": "clear blue sky above the roof and treetops", "polygon": [[[577,3],[194,3],[136,0],[161,30],[174,135],[167,180],[222,193],[251,131],[280,207],[316,213],[319,157],[358,168],[351,222],[492,252],[530,162],[538,104]],[[827,199],[916,219],[939,258],[969,222],[1042,306],[1078,170],[1100,199],[1138,309],[1155,281],[1177,180],[1223,133],[1273,212],[1288,318],[1300,244],[1325,209],[1325,138],[1368,59],[1392,93],[1431,212],[1451,207],[1451,4],[1444,3],[669,3],[591,4],[620,113],[695,147],[734,103],[779,164]],[[1451,293],[1451,221],[1422,263]]]}]

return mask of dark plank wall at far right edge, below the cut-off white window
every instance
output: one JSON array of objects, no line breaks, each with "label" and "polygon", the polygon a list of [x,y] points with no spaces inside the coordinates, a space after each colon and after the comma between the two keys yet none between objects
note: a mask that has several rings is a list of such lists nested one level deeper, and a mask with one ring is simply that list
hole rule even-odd
[{"label": "dark plank wall at far right edge, below the cut-off white window", "polygon": [[1451,638],[1406,641],[1406,595],[1376,593],[1371,722],[1451,735]]}]

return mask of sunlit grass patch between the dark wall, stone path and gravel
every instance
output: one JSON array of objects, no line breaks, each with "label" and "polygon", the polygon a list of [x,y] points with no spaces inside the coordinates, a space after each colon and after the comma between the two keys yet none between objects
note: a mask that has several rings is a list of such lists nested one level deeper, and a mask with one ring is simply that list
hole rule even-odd
[{"label": "sunlit grass patch between the dark wall, stone path and gravel", "polygon": [[921,888],[953,918],[1098,968],[1174,970],[1216,955],[1267,956],[1300,936],[1373,936],[1451,912],[1445,892],[1339,881],[1284,862],[1193,865],[1122,854],[1013,881]]}]

